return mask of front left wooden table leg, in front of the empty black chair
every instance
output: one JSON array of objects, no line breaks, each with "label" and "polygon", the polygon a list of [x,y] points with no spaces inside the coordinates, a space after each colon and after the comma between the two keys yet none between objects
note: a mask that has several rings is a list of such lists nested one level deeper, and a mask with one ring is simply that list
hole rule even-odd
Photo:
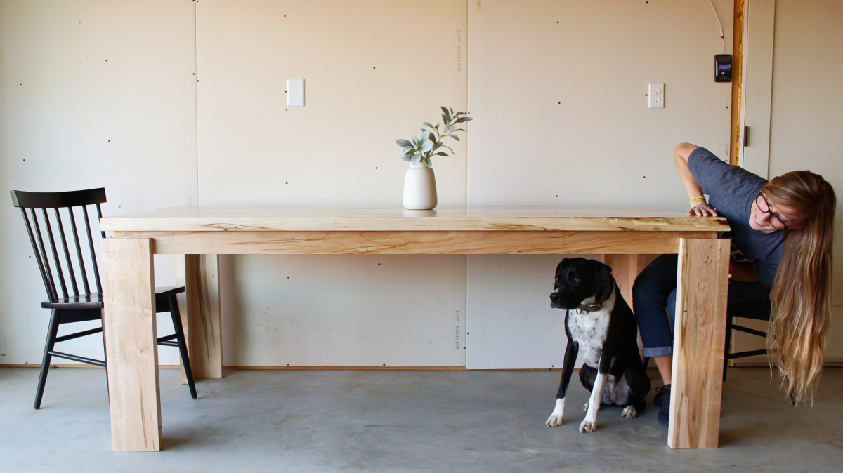
[{"label": "front left wooden table leg, in front of the empty black chair", "polygon": [[111,448],[161,449],[153,240],[102,242]]}]

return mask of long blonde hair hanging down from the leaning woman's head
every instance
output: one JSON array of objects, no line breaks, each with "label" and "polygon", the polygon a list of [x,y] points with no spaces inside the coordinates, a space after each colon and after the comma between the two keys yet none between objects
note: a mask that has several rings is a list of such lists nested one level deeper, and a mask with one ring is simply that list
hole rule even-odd
[{"label": "long blonde hair hanging down from the leaning woman's head", "polygon": [[767,348],[789,400],[813,402],[831,318],[835,191],[810,171],[782,174],[763,191],[774,205],[792,208],[804,218],[802,228],[786,230],[771,291]]}]

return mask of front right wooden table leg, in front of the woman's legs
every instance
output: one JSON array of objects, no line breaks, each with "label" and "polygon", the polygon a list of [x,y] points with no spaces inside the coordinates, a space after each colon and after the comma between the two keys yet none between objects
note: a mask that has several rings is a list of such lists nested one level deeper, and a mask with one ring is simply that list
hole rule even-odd
[{"label": "front right wooden table leg, in front of the woman's legs", "polygon": [[681,239],[668,445],[717,447],[728,300],[728,239]]}]

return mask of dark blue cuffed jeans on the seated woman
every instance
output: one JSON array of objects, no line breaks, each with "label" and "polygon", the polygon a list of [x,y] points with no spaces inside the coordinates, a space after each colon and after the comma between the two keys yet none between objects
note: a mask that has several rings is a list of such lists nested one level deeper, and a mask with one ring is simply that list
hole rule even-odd
[{"label": "dark blue cuffed jeans on the seated woman", "polygon": [[[644,356],[674,353],[676,271],[679,256],[663,254],[638,274],[632,285],[632,307],[644,343]],[[764,300],[770,287],[760,282],[729,281],[729,302]]]}]

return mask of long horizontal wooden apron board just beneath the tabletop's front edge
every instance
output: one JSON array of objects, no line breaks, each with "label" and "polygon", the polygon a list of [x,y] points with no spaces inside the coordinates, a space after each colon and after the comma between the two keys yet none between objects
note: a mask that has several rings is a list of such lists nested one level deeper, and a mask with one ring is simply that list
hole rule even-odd
[{"label": "long horizontal wooden apron board just beneath the tabletop's front edge", "polygon": [[155,240],[155,252],[191,254],[661,254],[679,237],[713,231],[202,231],[115,232]]}]

